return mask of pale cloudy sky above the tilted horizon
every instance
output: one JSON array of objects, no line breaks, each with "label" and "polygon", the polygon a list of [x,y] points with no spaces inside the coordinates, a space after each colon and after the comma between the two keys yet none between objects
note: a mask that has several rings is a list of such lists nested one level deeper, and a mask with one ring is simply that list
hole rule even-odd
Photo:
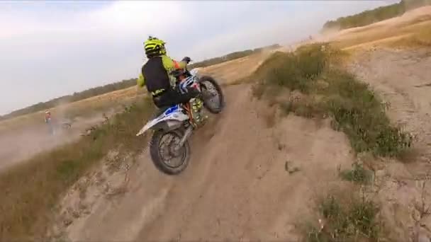
[{"label": "pale cloudy sky above the tilted horizon", "polygon": [[0,115],[138,77],[148,35],[194,61],[318,33],[382,1],[0,1]]}]

